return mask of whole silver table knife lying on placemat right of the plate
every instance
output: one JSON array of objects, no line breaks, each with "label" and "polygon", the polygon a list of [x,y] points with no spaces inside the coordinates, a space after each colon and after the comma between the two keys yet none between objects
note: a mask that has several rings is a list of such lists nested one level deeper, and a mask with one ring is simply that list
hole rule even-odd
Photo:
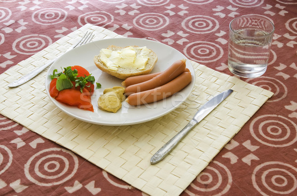
[{"label": "whole silver table knife lying on placemat right of the plate", "polygon": [[150,164],[156,164],[161,161],[169,152],[177,146],[177,144],[214,108],[216,108],[225,98],[227,98],[233,90],[224,91],[213,98],[209,99],[194,115],[193,119],[163,147],[161,147],[151,158]]}]

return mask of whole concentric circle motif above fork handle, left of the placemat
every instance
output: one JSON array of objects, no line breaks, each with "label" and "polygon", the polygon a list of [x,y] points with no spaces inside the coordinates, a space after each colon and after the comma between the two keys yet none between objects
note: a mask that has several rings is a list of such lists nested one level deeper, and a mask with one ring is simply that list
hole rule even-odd
[{"label": "whole concentric circle motif above fork handle, left of the placemat", "polygon": [[52,41],[48,36],[33,34],[16,39],[12,48],[21,54],[35,54],[51,44]]}]

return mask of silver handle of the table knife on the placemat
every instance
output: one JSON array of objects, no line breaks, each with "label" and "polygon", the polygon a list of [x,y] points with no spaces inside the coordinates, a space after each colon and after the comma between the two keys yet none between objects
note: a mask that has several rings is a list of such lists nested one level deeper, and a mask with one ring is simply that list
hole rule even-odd
[{"label": "silver handle of the table knife on the placemat", "polygon": [[176,145],[192,130],[193,127],[195,127],[196,124],[197,122],[195,120],[191,120],[178,134],[176,134],[150,158],[150,164],[156,164],[167,156],[167,154],[176,147]]}]

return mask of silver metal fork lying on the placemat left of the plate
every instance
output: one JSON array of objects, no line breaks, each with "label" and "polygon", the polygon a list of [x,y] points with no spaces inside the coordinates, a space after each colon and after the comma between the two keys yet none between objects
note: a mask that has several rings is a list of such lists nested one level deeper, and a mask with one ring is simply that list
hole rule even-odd
[{"label": "silver metal fork lying on the placemat left of the plate", "polygon": [[[93,33],[89,33],[87,32],[84,37],[76,44],[74,45],[72,48],[70,49],[67,49],[67,51],[71,50],[71,49],[74,49],[75,47],[77,46],[81,46],[83,44],[86,44],[86,43],[89,43],[91,42],[91,40],[93,39],[94,37],[94,34]],[[29,74],[27,75],[24,75],[22,76],[21,78],[19,78],[18,80],[8,84],[8,87],[10,88],[13,88],[13,87],[18,87],[26,82],[28,82],[29,80],[31,80],[32,78],[34,78],[35,76],[37,76],[40,72],[42,72],[43,70],[45,70],[49,65],[51,65],[57,58],[51,60],[49,63],[41,66],[41,67],[38,67],[36,69],[34,69],[32,72],[30,72]]]}]

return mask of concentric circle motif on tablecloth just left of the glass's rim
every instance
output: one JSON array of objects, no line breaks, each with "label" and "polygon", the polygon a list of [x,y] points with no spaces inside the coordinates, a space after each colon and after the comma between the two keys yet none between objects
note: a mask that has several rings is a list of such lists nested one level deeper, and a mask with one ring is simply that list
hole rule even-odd
[{"label": "concentric circle motif on tablecloth just left of the glass's rim", "polygon": [[216,31],[219,28],[219,22],[213,17],[196,15],[187,17],[182,26],[191,33],[205,34]]}]

